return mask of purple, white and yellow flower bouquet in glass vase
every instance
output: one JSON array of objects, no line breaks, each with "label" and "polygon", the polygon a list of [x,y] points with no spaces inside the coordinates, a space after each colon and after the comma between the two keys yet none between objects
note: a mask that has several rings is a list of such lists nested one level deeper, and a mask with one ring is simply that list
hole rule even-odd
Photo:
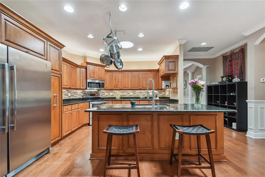
[{"label": "purple, white and yellow flower bouquet in glass vase", "polygon": [[189,81],[189,85],[191,86],[191,90],[194,94],[195,97],[195,107],[201,107],[201,93],[204,92],[204,86],[205,86],[205,82],[198,80],[198,79],[194,79]]}]

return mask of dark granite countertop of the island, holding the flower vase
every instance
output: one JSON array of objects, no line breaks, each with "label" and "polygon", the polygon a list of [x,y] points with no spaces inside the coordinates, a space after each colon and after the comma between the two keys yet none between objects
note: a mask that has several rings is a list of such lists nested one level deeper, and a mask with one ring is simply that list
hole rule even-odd
[{"label": "dark granite countertop of the island, holding the flower vase", "polygon": [[86,109],[85,112],[236,112],[227,109],[202,104],[201,108],[194,108],[194,104],[160,104],[160,107],[152,107],[151,104],[102,104],[100,106]]}]

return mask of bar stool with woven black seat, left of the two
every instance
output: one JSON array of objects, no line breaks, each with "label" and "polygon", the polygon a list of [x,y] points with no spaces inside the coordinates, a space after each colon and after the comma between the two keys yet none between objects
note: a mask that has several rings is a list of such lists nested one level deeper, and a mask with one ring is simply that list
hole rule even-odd
[{"label": "bar stool with woven black seat, left of the two", "polygon": [[[104,164],[104,174],[106,176],[107,169],[137,169],[137,175],[140,177],[139,169],[139,159],[138,159],[138,150],[137,150],[137,141],[136,133],[140,132],[139,125],[128,125],[128,126],[117,126],[117,125],[108,125],[103,133],[107,133],[107,145],[106,145],[106,155],[105,155],[105,164]],[[134,150],[135,154],[111,154],[112,147],[112,135],[133,135],[134,140]],[[136,164],[130,166],[110,166],[111,157],[132,157],[135,156]]]}]

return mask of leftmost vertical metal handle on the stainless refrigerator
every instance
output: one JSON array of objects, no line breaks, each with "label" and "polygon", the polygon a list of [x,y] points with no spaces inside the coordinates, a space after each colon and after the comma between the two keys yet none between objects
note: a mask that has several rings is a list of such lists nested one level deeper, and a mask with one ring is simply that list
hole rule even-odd
[{"label": "leftmost vertical metal handle on the stainless refrigerator", "polygon": [[8,118],[9,118],[9,71],[8,71],[8,63],[1,64],[3,69],[5,69],[6,75],[6,117],[5,117],[5,132],[8,132]]}]

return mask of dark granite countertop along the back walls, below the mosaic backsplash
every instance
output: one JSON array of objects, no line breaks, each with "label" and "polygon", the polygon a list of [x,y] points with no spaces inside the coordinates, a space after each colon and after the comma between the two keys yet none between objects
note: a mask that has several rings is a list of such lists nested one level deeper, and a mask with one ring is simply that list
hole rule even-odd
[{"label": "dark granite countertop along the back walls, below the mosaic backsplash", "polygon": [[[108,101],[112,101],[112,100],[152,100],[152,97],[150,97],[149,99],[139,99],[139,97],[122,97],[121,99],[116,99],[115,97],[101,97],[102,100],[108,100]],[[175,99],[170,99],[169,97],[161,97],[159,99],[155,99],[156,101],[158,100],[169,100],[171,102],[175,102],[177,103],[178,100]],[[67,105],[71,105],[71,104],[77,104],[77,103],[83,103],[83,102],[89,102],[89,101],[84,101],[83,98],[70,98],[70,99],[63,99],[63,106],[67,106]]]}]

